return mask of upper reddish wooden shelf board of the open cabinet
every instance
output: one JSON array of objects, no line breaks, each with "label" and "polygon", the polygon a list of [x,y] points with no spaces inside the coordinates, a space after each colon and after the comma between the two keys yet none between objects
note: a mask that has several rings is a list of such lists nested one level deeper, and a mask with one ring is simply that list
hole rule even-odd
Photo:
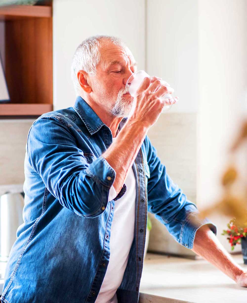
[{"label": "upper reddish wooden shelf board of the open cabinet", "polygon": [[48,5],[10,5],[0,8],[0,20],[12,20],[20,17],[51,18],[52,6]]}]

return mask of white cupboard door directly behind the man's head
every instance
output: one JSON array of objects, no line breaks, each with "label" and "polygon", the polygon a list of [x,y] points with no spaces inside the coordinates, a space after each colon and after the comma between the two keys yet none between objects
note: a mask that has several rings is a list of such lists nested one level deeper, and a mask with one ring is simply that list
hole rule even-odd
[{"label": "white cupboard door directly behind the man's head", "polygon": [[144,4],[144,0],[53,1],[54,110],[74,105],[71,60],[85,38],[116,35],[128,45],[138,68],[145,68]]}]

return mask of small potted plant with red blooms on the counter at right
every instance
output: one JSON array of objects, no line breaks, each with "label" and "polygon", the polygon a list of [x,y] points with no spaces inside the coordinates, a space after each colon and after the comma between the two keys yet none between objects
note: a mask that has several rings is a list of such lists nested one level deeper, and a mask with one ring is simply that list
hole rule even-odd
[{"label": "small potted plant with red blooms on the counter at right", "polygon": [[223,230],[222,235],[227,235],[232,251],[236,244],[242,245],[244,264],[247,264],[247,218],[246,222],[239,223],[235,218],[227,224],[228,229]]}]

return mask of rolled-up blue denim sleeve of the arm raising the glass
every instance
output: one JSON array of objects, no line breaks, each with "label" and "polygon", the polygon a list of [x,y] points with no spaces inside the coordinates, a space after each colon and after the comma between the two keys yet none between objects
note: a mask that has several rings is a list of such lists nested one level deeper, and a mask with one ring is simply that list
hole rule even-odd
[{"label": "rolled-up blue denim sleeve of the arm raising the glass", "polygon": [[[29,164],[61,205],[89,218],[105,210],[116,175],[114,169],[102,156],[87,163],[69,128],[59,119],[46,116],[33,123],[27,153]],[[114,200],[125,191],[123,185]]]}]

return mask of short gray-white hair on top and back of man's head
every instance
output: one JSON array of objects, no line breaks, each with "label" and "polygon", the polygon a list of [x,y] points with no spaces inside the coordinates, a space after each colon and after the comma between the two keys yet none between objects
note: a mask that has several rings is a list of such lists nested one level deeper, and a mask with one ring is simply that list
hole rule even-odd
[{"label": "short gray-white hair on top and back of man's head", "polygon": [[90,75],[96,74],[96,67],[100,61],[100,41],[102,39],[106,39],[116,45],[126,46],[122,39],[107,35],[91,36],[82,41],[74,53],[71,65],[71,78],[77,95],[81,93],[77,72],[81,69]]}]

